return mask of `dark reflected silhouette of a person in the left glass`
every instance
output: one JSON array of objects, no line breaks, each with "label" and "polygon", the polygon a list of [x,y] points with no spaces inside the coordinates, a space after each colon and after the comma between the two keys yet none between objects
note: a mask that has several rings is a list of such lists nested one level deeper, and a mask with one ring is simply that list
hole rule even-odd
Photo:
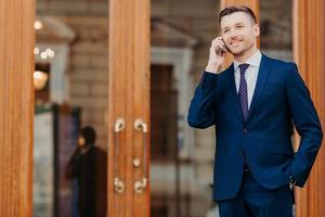
[{"label": "dark reflected silhouette of a person in the left glass", "polygon": [[66,169],[66,177],[78,182],[79,217],[106,214],[106,152],[95,146],[95,130],[82,127]]}]

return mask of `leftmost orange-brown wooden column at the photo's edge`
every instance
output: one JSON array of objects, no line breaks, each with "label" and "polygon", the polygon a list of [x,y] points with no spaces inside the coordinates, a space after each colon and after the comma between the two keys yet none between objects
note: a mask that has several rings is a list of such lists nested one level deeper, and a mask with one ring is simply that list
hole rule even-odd
[{"label": "leftmost orange-brown wooden column at the photo's edge", "polygon": [[0,216],[31,215],[34,0],[0,0]]}]

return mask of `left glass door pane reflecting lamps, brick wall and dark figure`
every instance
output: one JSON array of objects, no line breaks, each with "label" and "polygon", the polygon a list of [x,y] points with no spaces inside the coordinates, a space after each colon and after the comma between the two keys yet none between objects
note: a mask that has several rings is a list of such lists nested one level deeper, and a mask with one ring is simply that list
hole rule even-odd
[{"label": "left glass door pane reflecting lamps, brick wall and dark figure", "polygon": [[[36,2],[36,217],[106,216],[107,3]],[[83,126],[91,126],[96,133],[96,142],[84,153],[91,155],[87,158],[92,163],[87,164],[72,161],[72,156],[83,156],[76,153]],[[67,167],[78,168],[78,173],[67,173]],[[86,206],[91,214],[80,209],[84,200],[92,204]]]}]

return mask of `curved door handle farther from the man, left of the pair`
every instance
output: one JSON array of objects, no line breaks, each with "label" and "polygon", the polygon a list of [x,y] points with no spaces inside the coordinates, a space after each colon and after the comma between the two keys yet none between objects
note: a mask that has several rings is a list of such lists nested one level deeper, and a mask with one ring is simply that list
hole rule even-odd
[{"label": "curved door handle farther from the man, left of the pair", "polygon": [[118,156],[119,156],[119,133],[126,128],[126,123],[122,118],[118,118],[115,122],[114,126],[114,143],[115,143],[115,154],[114,154],[114,190],[116,193],[121,194],[125,192],[126,184],[125,182],[119,178],[119,171],[118,171]]}]

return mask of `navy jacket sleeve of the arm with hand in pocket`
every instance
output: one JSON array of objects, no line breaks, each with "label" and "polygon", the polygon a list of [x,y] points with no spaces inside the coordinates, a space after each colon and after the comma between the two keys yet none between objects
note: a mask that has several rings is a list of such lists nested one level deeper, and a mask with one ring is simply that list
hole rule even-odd
[{"label": "navy jacket sleeve of the arm with hand in pocket", "polygon": [[286,87],[291,117],[301,137],[289,173],[297,181],[297,186],[303,187],[322,144],[323,132],[310,92],[296,64],[291,65],[287,74]]}]

